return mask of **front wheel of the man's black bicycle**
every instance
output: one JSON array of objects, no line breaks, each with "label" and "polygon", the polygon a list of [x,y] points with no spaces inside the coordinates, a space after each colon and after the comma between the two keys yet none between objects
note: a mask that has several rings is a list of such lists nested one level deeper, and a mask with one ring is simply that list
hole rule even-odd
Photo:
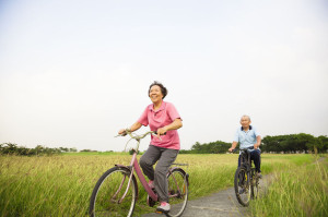
[{"label": "front wheel of the man's black bicycle", "polygon": [[250,200],[250,180],[245,167],[238,167],[235,173],[235,194],[243,206],[248,206]]}]

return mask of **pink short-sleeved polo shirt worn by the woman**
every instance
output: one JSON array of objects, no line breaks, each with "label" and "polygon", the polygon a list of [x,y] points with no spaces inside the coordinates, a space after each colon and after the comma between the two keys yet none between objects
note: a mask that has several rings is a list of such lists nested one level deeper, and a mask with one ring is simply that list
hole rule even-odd
[{"label": "pink short-sleeved polo shirt worn by the woman", "polygon": [[[180,118],[180,116],[173,104],[162,101],[161,108],[157,111],[154,111],[153,104],[149,105],[138,122],[145,126],[149,125],[151,131],[156,131],[159,128],[168,125],[178,118]],[[177,130],[167,131],[166,135],[161,135],[161,138],[162,141],[157,136],[152,135],[151,145],[180,149],[180,140]]]}]

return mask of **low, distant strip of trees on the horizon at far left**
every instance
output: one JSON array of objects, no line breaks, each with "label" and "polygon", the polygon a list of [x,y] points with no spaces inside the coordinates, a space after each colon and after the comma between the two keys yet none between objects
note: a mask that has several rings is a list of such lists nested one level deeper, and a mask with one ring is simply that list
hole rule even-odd
[{"label": "low, distant strip of trees on the horizon at far left", "polygon": [[68,153],[68,152],[78,152],[77,148],[68,148],[68,147],[45,147],[42,145],[37,145],[35,148],[28,148],[23,146],[17,146],[13,143],[2,143],[0,144],[0,155],[22,155],[22,156],[50,156],[50,155],[57,155],[61,153]]}]

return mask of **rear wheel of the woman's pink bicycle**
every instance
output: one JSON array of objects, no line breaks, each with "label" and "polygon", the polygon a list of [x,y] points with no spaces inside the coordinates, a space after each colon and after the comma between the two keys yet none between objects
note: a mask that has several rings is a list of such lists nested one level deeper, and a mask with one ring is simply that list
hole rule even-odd
[{"label": "rear wheel of the woman's pink bicycle", "polygon": [[171,210],[167,216],[181,216],[188,202],[188,174],[181,168],[174,168],[167,176]]}]

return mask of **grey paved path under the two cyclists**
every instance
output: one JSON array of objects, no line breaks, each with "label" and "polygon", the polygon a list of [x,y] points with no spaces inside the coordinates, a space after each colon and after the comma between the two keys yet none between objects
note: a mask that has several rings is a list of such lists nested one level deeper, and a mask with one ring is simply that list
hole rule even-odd
[{"label": "grey paved path under the two cyclists", "polygon": [[[260,192],[266,190],[272,176],[260,180]],[[235,196],[233,188],[220,191],[206,197],[188,201],[183,217],[241,217],[245,216],[247,207],[243,207]],[[142,217],[164,217],[164,214],[145,214]]]}]

